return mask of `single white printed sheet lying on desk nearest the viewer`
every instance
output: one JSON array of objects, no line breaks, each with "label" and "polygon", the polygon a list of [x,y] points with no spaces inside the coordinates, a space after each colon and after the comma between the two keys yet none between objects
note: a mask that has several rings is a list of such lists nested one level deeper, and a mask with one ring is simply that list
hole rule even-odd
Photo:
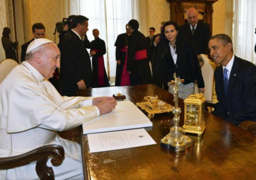
[{"label": "single white printed sheet lying on desk nearest the viewer", "polygon": [[88,135],[90,153],[156,144],[145,129],[131,129]]}]

